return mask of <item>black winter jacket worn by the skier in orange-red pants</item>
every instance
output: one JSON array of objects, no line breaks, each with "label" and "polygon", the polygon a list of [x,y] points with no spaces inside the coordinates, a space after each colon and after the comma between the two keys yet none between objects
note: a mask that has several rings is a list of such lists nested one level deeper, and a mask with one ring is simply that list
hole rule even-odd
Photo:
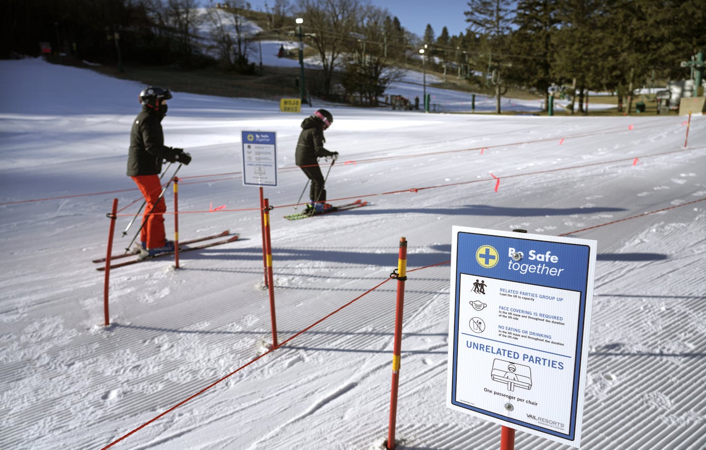
[{"label": "black winter jacket worn by the skier in orange-red pants", "polygon": [[174,159],[177,154],[172,147],[164,146],[162,118],[157,111],[142,107],[130,131],[128,151],[128,176],[158,175],[162,171],[162,159]]}]

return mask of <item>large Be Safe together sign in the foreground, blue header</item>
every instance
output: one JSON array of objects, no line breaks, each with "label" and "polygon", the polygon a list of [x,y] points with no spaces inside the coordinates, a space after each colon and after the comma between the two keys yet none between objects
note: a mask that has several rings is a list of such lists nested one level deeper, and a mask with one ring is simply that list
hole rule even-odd
[{"label": "large Be Safe together sign in the foreground, blue header", "polygon": [[580,446],[596,241],[454,226],[447,406]]}]

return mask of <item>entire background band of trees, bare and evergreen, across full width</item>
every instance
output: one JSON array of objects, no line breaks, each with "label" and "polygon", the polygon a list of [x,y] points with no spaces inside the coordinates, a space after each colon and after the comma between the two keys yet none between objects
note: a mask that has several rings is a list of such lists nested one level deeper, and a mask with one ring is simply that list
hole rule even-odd
[{"label": "entire background band of trees, bare and evergreen, across full width", "polygon": [[[0,57],[52,51],[109,63],[128,61],[186,67],[220,64],[254,72],[253,36],[244,0],[215,3],[197,14],[197,0],[6,0]],[[203,11],[203,10],[202,10]],[[408,32],[385,8],[368,0],[273,0],[263,28],[294,35],[321,61],[321,74],[307,80],[315,95],[356,98],[376,104],[400,77],[400,68],[421,66],[467,80],[500,98],[510,87],[548,100],[554,87],[582,95],[608,90],[630,97],[651,80],[688,78],[681,61],[706,47],[702,0],[469,0],[468,28],[436,36]],[[208,25],[205,44],[197,30]],[[545,107],[548,102],[544,102]],[[628,106],[629,107],[629,106]]]}]

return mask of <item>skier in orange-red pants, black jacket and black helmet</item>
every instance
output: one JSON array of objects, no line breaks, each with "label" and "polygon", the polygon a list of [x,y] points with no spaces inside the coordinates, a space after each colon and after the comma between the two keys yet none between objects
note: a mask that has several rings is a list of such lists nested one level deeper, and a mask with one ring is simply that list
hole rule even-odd
[{"label": "skier in orange-red pants, black jacket and black helmet", "polygon": [[172,92],[168,89],[145,87],[140,92],[142,111],[133,121],[130,132],[127,174],[137,183],[146,201],[144,226],[140,231],[140,255],[143,256],[174,250],[174,242],[167,241],[164,233],[162,214],[167,211],[167,205],[164,198],[160,199],[162,159],[181,164],[191,162],[189,153],[164,145],[162,118],[167,114],[167,100],[171,98]]}]

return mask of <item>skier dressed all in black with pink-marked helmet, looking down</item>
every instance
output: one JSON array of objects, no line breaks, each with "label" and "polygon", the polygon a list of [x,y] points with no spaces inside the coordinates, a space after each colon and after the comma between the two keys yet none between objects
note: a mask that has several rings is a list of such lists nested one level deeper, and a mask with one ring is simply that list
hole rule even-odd
[{"label": "skier dressed all in black with pink-marked helmet, looking down", "polygon": [[323,143],[326,142],[323,130],[330,127],[331,123],[333,123],[333,116],[325,109],[319,109],[301,122],[302,130],[294,157],[297,166],[311,181],[311,188],[309,188],[311,203],[306,205],[307,211],[310,212],[331,209],[331,205],[326,203],[324,178],[321,167],[318,166],[318,158],[331,157],[334,161],[338,158],[338,152],[329,152],[323,147]]}]

